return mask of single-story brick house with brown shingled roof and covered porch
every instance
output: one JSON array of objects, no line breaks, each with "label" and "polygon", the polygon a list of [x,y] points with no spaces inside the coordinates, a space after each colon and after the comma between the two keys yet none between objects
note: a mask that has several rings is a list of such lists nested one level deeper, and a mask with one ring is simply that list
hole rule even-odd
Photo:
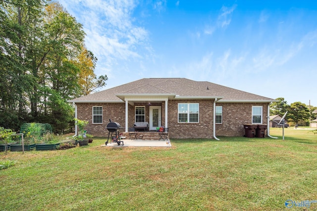
[{"label": "single-story brick house with brown shingled roof and covered porch", "polygon": [[[106,136],[111,119],[125,132],[135,122],[169,128],[170,138],[243,136],[243,125],[267,125],[274,99],[185,78],[146,78],[69,100],[94,136]],[[267,132],[265,131],[267,134]]]}]

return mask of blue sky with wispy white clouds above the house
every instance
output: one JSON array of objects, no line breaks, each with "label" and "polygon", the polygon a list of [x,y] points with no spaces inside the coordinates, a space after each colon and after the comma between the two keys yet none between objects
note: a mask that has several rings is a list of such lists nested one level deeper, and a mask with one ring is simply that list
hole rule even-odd
[{"label": "blue sky with wispy white clouds above the house", "polygon": [[59,2],[83,24],[103,89],[187,78],[317,106],[315,0]]}]

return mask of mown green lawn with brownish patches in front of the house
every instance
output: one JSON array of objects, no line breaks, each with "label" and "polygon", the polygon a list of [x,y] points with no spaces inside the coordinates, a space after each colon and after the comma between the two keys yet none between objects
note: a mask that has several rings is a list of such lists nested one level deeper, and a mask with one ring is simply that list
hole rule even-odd
[{"label": "mown green lawn with brownish patches in front of the house", "polygon": [[0,210],[317,210],[317,134],[172,139],[171,148],[89,146],[0,153]]}]

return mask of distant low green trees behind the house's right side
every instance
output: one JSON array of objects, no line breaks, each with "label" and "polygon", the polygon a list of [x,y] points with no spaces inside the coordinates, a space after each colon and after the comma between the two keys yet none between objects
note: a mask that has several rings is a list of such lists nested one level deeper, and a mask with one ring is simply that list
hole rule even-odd
[{"label": "distant low green trees behind the house's right side", "polygon": [[306,105],[301,102],[294,102],[290,105],[283,97],[276,98],[277,102],[270,105],[270,115],[280,115],[281,117],[286,113],[285,120],[290,125],[309,126],[310,121],[316,120],[316,113],[312,113],[317,107]]}]

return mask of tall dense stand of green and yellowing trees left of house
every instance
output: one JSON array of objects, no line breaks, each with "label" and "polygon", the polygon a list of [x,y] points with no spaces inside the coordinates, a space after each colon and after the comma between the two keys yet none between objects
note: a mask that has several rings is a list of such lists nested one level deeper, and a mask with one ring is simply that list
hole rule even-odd
[{"label": "tall dense stand of green and yellowing trees left of house", "polygon": [[82,24],[57,1],[0,1],[0,126],[73,125],[67,100],[105,86],[97,58],[84,43]]}]

